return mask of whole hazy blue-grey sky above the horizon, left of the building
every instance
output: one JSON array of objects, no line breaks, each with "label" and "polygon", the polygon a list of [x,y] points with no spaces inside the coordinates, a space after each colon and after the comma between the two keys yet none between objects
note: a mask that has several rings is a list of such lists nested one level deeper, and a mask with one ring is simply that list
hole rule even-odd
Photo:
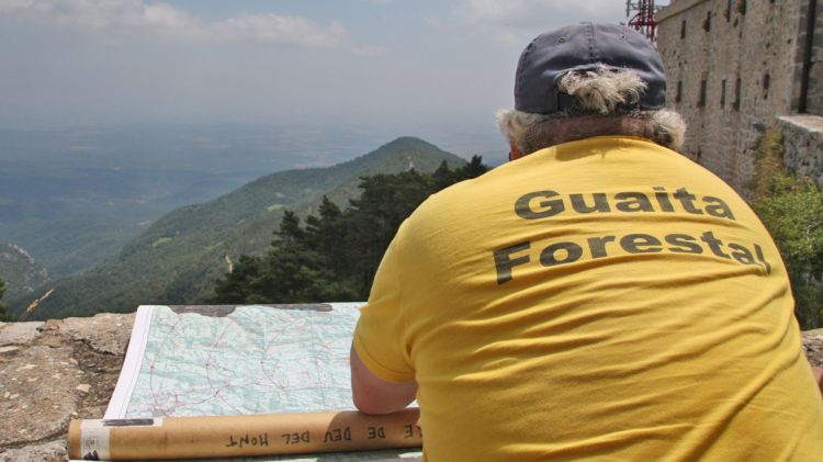
[{"label": "whole hazy blue-grey sky above the horizon, left of the building", "polygon": [[0,0],[0,123],[493,123],[537,34],[621,0]]}]

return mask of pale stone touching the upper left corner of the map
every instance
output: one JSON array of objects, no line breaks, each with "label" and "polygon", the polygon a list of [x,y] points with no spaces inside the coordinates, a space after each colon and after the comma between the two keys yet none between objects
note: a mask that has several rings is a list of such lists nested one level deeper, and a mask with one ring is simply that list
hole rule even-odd
[{"label": "pale stone touching the upper left corner of the map", "polygon": [[133,324],[134,314],[102,313],[92,318],[64,319],[60,331],[74,340],[88,341],[97,351],[124,356]]}]

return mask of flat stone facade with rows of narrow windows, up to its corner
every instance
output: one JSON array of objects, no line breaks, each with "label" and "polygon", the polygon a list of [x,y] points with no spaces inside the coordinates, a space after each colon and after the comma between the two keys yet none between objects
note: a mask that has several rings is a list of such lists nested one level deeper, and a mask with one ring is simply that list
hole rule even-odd
[{"label": "flat stone facade with rows of narrow windows, up to its corner", "polygon": [[754,150],[797,106],[801,0],[675,0],[657,14],[669,109],[689,125],[685,154],[746,193]]}]

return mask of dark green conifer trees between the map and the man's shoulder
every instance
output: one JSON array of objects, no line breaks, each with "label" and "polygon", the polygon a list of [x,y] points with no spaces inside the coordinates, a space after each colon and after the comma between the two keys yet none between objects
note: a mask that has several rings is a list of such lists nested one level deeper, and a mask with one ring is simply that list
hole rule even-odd
[{"label": "dark green conifer trees between the map and the man's shoulder", "polygon": [[324,196],[305,226],[286,211],[263,257],[241,256],[215,288],[213,303],[362,301],[401,224],[429,195],[488,168],[475,156],[451,170],[363,177],[362,194],[341,210]]}]

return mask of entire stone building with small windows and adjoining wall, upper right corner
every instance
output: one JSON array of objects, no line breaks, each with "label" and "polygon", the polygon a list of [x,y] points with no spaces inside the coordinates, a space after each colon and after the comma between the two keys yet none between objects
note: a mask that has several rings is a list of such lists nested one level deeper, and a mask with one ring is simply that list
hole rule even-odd
[{"label": "entire stone building with small windows and adjoining wall, upper right corner", "polygon": [[667,101],[689,125],[685,154],[745,194],[770,127],[786,162],[823,181],[823,2],[673,0],[657,12]]}]

